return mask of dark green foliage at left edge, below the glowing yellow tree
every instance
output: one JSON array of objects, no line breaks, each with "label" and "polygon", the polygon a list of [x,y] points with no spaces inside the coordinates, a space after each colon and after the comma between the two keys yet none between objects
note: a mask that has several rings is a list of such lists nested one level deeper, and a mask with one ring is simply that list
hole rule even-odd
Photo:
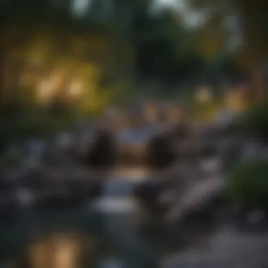
[{"label": "dark green foliage at left edge, below the glowing yellow tree", "polygon": [[1,149],[28,138],[52,138],[56,133],[68,129],[75,121],[75,115],[67,111],[55,114],[36,106],[14,105],[1,106]]}]

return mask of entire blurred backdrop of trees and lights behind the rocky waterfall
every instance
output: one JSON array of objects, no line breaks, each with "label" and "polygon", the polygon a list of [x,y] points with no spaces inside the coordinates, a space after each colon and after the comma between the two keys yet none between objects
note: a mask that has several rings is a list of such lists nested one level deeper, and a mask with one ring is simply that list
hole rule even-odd
[{"label": "entire blurred backdrop of trees and lights behind the rocky waterfall", "polygon": [[[97,116],[135,99],[189,99],[201,120],[223,106],[257,104],[267,91],[267,5],[1,1],[1,109],[16,102],[15,114],[28,122],[31,116],[22,116],[29,113],[19,110],[37,116],[57,104],[71,111],[64,116]],[[211,99],[193,101],[204,86]]]}]

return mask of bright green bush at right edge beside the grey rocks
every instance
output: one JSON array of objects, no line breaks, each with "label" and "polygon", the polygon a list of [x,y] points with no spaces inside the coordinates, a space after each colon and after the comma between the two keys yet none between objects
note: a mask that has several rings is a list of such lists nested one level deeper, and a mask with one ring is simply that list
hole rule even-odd
[{"label": "bright green bush at right edge beside the grey rocks", "polygon": [[252,159],[233,166],[227,188],[238,205],[268,209],[268,160]]}]

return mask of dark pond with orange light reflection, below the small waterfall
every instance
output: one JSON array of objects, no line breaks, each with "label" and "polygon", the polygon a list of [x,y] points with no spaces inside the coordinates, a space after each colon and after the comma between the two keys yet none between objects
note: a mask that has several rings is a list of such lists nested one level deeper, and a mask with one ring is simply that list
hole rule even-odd
[{"label": "dark pond with orange light reflection, below the small waterfall", "polygon": [[[32,209],[1,219],[1,260],[13,260],[21,268],[117,268],[120,262],[126,268],[157,267],[166,248],[179,248],[180,238],[157,219],[137,224],[135,200],[125,193],[128,184],[111,183],[106,188],[115,195],[106,201],[102,197],[99,205]],[[126,196],[118,197],[119,192]],[[120,262],[112,264],[111,258]]]}]

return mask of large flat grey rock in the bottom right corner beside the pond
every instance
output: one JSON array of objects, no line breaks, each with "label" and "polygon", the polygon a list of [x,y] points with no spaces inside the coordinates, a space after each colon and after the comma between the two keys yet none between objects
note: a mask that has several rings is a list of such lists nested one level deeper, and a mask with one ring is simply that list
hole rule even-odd
[{"label": "large flat grey rock in the bottom right corner beside the pond", "polygon": [[217,231],[208,239],[209,243],[202,248],[184,250],[167,257],[162,267],[261,268],[268,263],[266,233],[254,235]]}]

